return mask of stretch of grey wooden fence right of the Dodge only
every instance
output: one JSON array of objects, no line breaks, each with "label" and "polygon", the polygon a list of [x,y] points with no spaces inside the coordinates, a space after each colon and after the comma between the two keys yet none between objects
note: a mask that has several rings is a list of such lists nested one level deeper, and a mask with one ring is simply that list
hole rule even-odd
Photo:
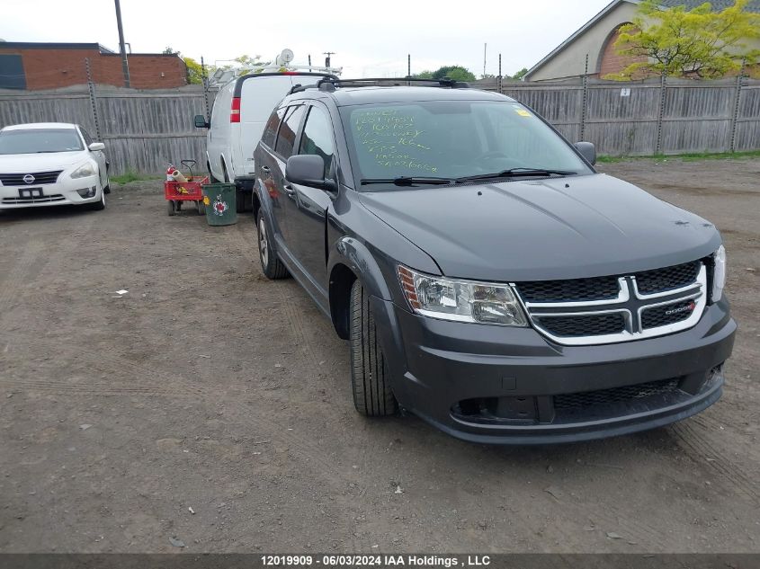
[{"label": "stretch of grey wooden fence right of the Dodge only", "polygon": [[[478,82],[498,91],[498,85]],[[570,141],[609,156],[760,150],[760,81],[661,79],[619,83],[505,83],[501,92],[549,120]]]}]

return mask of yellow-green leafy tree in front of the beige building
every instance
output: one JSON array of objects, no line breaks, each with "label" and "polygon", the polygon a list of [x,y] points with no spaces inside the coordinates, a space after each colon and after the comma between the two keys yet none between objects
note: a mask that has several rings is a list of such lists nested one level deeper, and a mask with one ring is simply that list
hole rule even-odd
[{"label": "yellow-green leafy tree in front of the beige building", "polygon": [[645,59],[605,78],[627,81],[663,73],[719,78],[736,73],[744,63],[755,64],[760,50],[750,49],[747,40],[760,39],[760,14],[746,11],[747,1],[713,11],[710,3],[687,10],[645,0],[615,42],[619,54]]}]

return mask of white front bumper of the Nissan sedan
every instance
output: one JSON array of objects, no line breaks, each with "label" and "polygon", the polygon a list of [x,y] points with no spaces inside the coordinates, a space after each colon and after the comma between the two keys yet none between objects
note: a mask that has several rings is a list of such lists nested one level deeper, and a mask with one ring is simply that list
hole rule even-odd
[{"label": "white front bumper of the Nissan sedan", "polygon": [[[58,176],[58,182],[43,185],[4,186],[0,185],[0,209],[43,208],[46,206],[82,205],[94,203],[101,199],[100,180],[97,174],[76,180],[65,173]],[[79,190],[93,191],[94,196],[83,198]],[[39,189],[40,192],[30,190]],[[24,195],[20,191],[24,191]]]}]

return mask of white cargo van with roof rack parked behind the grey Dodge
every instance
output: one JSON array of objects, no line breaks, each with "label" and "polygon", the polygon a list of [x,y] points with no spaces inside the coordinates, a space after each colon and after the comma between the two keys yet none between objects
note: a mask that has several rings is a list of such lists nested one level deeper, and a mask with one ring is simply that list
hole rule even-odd
[{"label": "white cargo van with roof rack parked behind the grey Dodge", "polygon": [[209,129],[206,165],[211,181],[236,184],[238,211],[251,209],[254,150],[275,105],[296,85],[316,84],[325,77],[337,78],[330,73],[331,69],[312,69],[311,72],[262,70],[236,77],[219,89],[210,120],[202,115],[195,117],[197,128]]}]

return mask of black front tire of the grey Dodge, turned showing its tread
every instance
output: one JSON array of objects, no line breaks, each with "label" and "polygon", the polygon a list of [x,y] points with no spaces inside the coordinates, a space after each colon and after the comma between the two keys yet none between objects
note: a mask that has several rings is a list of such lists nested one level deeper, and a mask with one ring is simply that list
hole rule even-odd
[{"label": "black front tire of the grey Dodge, turned showing its tread", "polygon": [[370,296],[359,280],[351,288],[351,389],[353,406],[367,417],[396,413],[388,366],[380,347]]}]

